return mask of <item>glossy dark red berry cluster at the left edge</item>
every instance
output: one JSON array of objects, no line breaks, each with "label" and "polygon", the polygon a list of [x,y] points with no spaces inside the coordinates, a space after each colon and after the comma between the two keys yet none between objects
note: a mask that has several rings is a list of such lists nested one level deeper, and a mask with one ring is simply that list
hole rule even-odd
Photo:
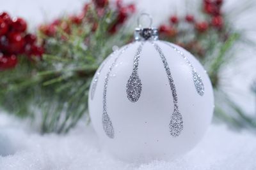
[{"label": "glossy dark red berry cluster at the left edge", "polygon": [[36,45],[36,36],[26,32],[27,24],[20,17],[0,13],[0,70],[15,67],[17,55],[41,57],[44,49]]}]

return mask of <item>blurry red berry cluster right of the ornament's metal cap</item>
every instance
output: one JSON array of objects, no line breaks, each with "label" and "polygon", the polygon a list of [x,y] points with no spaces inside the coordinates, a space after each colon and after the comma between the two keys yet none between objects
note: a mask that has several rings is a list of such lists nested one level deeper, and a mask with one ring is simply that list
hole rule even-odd
[{"label": "blurry red berry cluster right of the ornament's metal cap", "polygon": [[[172,15],[169,18],[168,24],[159,25],[159,33],[163,39],[173,41],[175,44],[183,46],[187,50],[196,53],[196,55],[204,56],[204,48],[198,41],[198,38],[206,34],[209,29],[218,31],[219,35],[223,35],[223,17],[221,15],[222,0],[202,0],[202,8],[205,14],[205,20],[196,20],[194,15],[187,14],[179,18],[177,15]],[[188,29],[184,29],[182,24],[189,25]],[[193,32],[191,32],[193,31]],[[181,42],[180,35],[194,34],[195,39],[191,41]],[[198,38],[196,38],[198,37]]]}]

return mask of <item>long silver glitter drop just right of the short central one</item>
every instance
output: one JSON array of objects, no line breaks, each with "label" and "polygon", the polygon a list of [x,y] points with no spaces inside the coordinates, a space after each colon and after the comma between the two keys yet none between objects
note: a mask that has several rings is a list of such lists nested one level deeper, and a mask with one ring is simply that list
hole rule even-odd
[{"label": "long silver glitter drop just right of the short central one", "polygon": [[174,104],[174,111],[171,116],[170,124],[169,124],[169,131],[171,136],[177,137],[180,135],[180,132],[183,130],[183,120],[182,120],[182,115],[180,114],[179,111],[179,104],[178,104],[178,97],[177,97],[177,92],[175,89],[175,84],[172,78],[172,73],[170,70],[170,67],[168,66],[168,62],[166,60],[166,57],[163,54],[163,51],[161,48],[152,41],[152,45],[156,48],[157,52],[159,53],[161,60],[164,64],[164,69],[166,71],[168,81],[170,83],[170,88],[172,91],[172,97],[173,97],[173,104]]}]

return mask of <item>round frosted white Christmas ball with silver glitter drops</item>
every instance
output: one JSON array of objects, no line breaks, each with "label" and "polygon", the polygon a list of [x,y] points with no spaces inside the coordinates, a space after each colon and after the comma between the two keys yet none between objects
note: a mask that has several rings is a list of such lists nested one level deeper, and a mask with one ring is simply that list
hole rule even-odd
[{"label": "round frosted white Christmas ball with silver glitter drops", "polygon": [[104,148],[129,162],[174,159],[211,124],[212,85],[198,60],[166,41],[136,41],[102,62],[89,94]]}]

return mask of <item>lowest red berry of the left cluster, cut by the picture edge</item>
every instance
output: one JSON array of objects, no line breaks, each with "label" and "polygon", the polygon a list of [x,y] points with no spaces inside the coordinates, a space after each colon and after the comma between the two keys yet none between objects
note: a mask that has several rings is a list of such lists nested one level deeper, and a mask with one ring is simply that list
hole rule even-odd
[{"label": "lowest red berry of the left cluster, cut by the picture edge", "polygon": [[0,69],[8,69],[15,67],[17,64],[17,57],[16,55],[3,55],[0,54]]}]

